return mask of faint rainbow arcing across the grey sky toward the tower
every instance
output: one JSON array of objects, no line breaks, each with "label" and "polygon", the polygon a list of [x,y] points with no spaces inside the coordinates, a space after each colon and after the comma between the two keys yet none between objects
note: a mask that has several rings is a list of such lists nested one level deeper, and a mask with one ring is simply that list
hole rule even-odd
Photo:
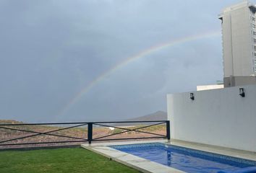
[{"label": "faint rainbow arcing across the grey sky toward the tower", "polygon": [[99,75],[98,77],[96,77],[95,79],[93,79],[93,81],[90,82],[90,84],[88,84],[87,86],[85,86],[85,88],[83,88],[80,92],[78,92],[72,99],[71,101],[64,107],[64,109],[62,109],[58,115],[64,115],[76,102],[78,102],[81,97],[90,91],[90,89],[93,88],[93,86],[95,86],[95,84],[98,84],[100,81],[102,81],[103,79],[106,78],[106,76],[109,76],[111,74],[113,74],[117,69],[126,66],[128,63],[132,63],[133,61],[136,61],[137,59],[140,58],[144,58],[148,55],[150,55],[151,53],[155,53],[159,50],[165,49],[165,48],[169,48],[171,46],[174,45],[179,45],[182,43],[187,43],[193,40],[200,40],[200,39],[205,39],[205,38],[209,38],[209,37],[216,37],[216,36],[220,36],[221,32],[206,32],[206,33],[201,33],[199,35],[190,35],[188,37],[182,37],[176,40],[171,40],[169,42],[166,43],[161,43],[160,45],[155,45],[153,47],[150,47],[146,50],[142,50],[140,53],[135,54],[134,56],[131,56],[129,58],[126,58],[124,61],[121,61],[119,63],[116,63],[116,66],[113,66],[112,68],[109,68],[107,71],[105,71],[103,74]]}]

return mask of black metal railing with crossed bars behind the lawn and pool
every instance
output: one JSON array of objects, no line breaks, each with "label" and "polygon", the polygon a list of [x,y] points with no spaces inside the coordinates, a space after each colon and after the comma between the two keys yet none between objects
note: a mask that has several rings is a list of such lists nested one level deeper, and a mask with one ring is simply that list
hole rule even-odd
[{"label": "black metal railing with crossed bars behind the lawn and pool", "polygon": [[[137,128],[125,128],[124,126],[121,126],[121,123],[155,123],[155,124],[146,124],[145,126],[142,127],[137,127]],[[147,131],[143,131],[141,129],[143,128],[149,128],[154,125],[161,125],[161,124],[166,124],[166,135],[161,135],[158,133],[151,133]],[[64,126],[62,128],[56,129],[56,130],[48,130],[46,132],[38,132],[35,130],[24,130],[24,129],[18,129],[18,128],[12,128],[12,127],[3,127],[3,126],[22,126],[22,125],[72,125],[71,127],[66,127]],[[53,132],[61,131],[61,130],[67,130],[70,128],[77,128],[77,127],[82,127],[82,126],[87,126],[87,133],[88,133],[88,138],[77,138],[77,137],[72,137],[72,136],[67,136],[67,135],[61,135],[61,134],[54,134]],[[111,135],[106,135],[106,136],[101,136],[98,138],[93,138],[93,125],[97,126],[103,126],[107,128],[117,128],[121,129],[122,131],[119,133],[114,133]],[[121,127],[120,127],[121,126]],[[133,126],[133,125],[132,125]],[[96,128],[96,127],[95,127]],[[149,139],[149,138],[167,138],[170,140],[170,121],[169,120],[149,120],[149,121],[103,121],[103,122],[80,122],[80,123],[18,123],[18,124],[1,124],[0,123],[0,129],[7,129],[7,130],[17,130],[17,131],[22,131],[22,132],[29,132],[29,133],[34,133],[30,134],[29,136],[22,136],[19,138],[11,138],[6,141],[1,141],[0,140],[0,146],[13,146],[13,145],[27,145],[27,144],[43,144],[43,143],[74,143],[74,142],[85,142],[88,141],[88,143],[92,143],[93,141],[113,141],[113,140],[132,140],[132,139]],[[110,136],[116,136],[122,133],[128,133],[128,132],[137,132],[137,133],[146,133],[153,135],[152,137],[140,137],[140,138],[108,138]],[[33,142],[33,143],[6,143],[10,141],[15,141],[15,140],[21,140],[24,138],[31,138],[35,136],[40,136],[40,135],[46,135],[46,136],[57,136],[57,137],[63,137],[63,138],[72,138],[75,139],[76,141],[52,141],[52,142]]]}]

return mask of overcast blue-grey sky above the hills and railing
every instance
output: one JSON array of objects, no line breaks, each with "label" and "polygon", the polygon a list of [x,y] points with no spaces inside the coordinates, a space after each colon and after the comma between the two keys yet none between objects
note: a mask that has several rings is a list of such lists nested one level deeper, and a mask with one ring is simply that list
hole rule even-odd
[{"label": "overcast blue-grey sky above the hills and railing", "polygon": [[0,119],[166,111],[166,94],[223,79],[218,14],[237,2],[0,0]]}]

